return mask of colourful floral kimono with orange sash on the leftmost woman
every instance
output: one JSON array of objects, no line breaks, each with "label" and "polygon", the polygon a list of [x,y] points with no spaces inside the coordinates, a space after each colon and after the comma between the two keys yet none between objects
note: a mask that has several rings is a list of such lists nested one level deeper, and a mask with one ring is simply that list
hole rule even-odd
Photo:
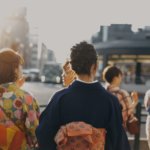
[{"label": "colourful floral kimono with orange sash on the leftmost woman", "polygon": [[[30,149],[36,142],[35,129],[39,123],[39,107],[35,98],[15,83],[2,84],[0,106],[0,149]],[[20,148],[17,147],[19,142]]]}]

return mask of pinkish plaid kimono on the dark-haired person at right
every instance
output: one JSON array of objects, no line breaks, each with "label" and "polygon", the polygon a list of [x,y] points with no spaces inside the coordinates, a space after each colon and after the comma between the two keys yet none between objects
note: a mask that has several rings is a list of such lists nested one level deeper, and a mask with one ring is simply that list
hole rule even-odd
[{"label": "pinkish plaid kimono on the dark-haired person at right", "polygon": [[122,118],[123,126],[126,128],[126,122],[128,119],[133,120],[134,118],[134,105],[131,96],[129,93],[119,87],[113,87],[109,85],[107,90],[113,95],[117,96],[119,103],[122,107]]}]

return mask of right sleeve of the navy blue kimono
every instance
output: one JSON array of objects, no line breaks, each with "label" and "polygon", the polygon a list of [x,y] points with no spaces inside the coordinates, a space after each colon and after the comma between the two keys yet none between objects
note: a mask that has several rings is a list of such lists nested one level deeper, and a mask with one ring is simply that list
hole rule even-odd
[{"label": "right sleeve of the navy blue kimono", "polygon": [[110,110],[106,150],[130,150],[127,135],[122,126],[121,107],[118,99],[114,96],[111,98]]}]

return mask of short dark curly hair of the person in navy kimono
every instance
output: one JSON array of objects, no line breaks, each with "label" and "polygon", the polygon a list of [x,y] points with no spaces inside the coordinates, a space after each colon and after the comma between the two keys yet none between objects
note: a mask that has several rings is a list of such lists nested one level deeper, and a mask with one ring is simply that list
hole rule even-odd
[{"label": "short dark curly hair of the person in navy kimono", "polygon": [[97,54],[93,45],[81,42],[71,48],[71,65],[77,74],[90,75],[90,69],[97,63]]}]

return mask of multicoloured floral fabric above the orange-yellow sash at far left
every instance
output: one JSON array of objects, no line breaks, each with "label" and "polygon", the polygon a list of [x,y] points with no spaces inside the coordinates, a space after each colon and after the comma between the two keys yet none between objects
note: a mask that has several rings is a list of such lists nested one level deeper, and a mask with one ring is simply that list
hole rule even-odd
[{"label": "multicoloured floral fabric above the orange-yellow sash at far left", "polygon": [[[28,144],[22,149],[36,142],[35,129],[39,123],[39,107],[35,98],[21,90],[15,83],[8,83],[0,85],[0,105],[15,124],[27,134]],[[15,124],[0,109],[0,125],[13,127]]]}]

